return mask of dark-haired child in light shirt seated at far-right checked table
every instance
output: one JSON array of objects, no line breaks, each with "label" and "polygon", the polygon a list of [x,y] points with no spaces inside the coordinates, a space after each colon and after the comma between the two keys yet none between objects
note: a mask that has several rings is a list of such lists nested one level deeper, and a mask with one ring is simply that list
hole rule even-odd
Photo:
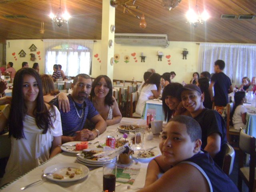
[{"label": "dark-haired child in light shirt seated at far-right checked table", "polygon": [[230,115],[230,119],[232,119],[234,129],[240,130],[240,127],[242,129],[246,128],[246,112],[247,109],[245,106],[243,106],[245,99],[245,92],[244,91],[238,91],[235,92],[234,100],[235,105],[233,107],[233,110]]}]

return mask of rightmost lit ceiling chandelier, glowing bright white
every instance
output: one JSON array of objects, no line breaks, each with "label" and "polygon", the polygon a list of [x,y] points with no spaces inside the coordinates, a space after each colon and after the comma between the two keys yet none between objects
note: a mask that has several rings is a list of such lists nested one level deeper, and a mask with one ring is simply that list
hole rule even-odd
[{"label": "rightmost lit ceiling chandelier, glowing bright white", "polygon": [[209,13],[204,10],[202,13],[199,12],[197,0],[196,0],[196,12],[193,9],[189,9],[186,13],[187,23],[192,24],[194,27],[198,24],[203,24],[206,20],[210,18]]}]

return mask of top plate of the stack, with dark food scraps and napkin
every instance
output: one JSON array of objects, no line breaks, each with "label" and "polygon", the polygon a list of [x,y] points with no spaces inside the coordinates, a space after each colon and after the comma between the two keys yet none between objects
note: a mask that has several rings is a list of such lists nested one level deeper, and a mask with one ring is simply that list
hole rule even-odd
[{"label": "top plate of the stack, with dark food scraps and napkin", "polygon": [[103,149],[100,148],[92,148],[92,149],[86,149],[81,152],[81,154],[77,154],[76,158],[82,162],[90,163],[90,164],[104,164],[106,162],[112,162],[116,158],[98,158],[96,156],[93,156],[96,153],[103,152]]}]

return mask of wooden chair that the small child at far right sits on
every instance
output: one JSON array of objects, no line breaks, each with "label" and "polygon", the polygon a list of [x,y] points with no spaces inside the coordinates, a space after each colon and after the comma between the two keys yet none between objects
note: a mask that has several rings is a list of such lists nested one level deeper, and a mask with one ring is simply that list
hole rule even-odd
[{"label": "wooden chair that the small child at far right sits on", "polygon": [[233,146],[235,150],[238,150],[239,147],[239,132],[240,130],[234,129],[233,126],[230,125],[231,119],[230,119],[230,114],[233,110],[234,103],[228,103],[227,104],[227,123],[226,123],[226,133],[227,133],[227,140],[228,143]]}]

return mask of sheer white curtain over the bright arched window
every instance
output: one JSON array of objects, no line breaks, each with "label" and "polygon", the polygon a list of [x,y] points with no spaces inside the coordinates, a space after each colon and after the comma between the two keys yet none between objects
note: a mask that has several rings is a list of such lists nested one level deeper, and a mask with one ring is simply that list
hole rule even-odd
[{"label": "sheer white curtain over the bright arched window", "polygon": [[66,76],[76,76],[80,73],[89,74],[93,40],[61,40],[44,39],[45,48],[45,73],[53,73],[53,65],[62,65],[62,70]]}]

